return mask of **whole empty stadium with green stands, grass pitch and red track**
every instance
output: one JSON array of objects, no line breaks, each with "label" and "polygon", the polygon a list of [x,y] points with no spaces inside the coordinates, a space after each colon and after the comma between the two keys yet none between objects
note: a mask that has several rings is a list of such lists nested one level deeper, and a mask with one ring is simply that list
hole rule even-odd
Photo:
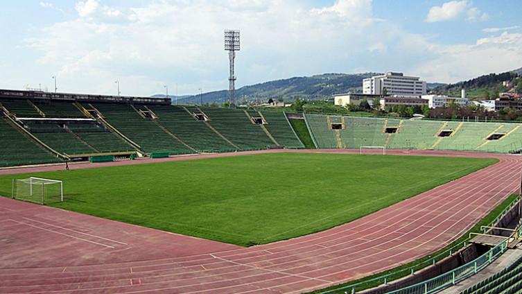
[{"label": "whole empty stadium with green stands, grass pitch and red track", "polygon": [[519,123],[16,90],[0,115],[0,293],[522,288]]}]

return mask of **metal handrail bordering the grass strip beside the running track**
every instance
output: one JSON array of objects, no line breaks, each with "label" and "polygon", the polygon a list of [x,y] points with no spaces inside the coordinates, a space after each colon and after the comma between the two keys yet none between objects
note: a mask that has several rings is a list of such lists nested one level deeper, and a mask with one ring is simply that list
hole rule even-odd
[{"label": "metal handrail bordering the grass strip beside the running track", "polygon": [[[489,223],[488,226],[496,225],[496,223],[498,223],[501,220],[501,218],[503,218],[505,216],[505,214],[507,214],[507,212],[510,211],[510,209],[512,209],[514,207],[514,205],[516,205],[520,201],[521,201],[521,196],[520,195],[516,196],[516,198],[510,203],[510,205],[507,205],[507,207],[500,214],[498,214],[498,216],[493,221],[491,221],[491,223]],[[522,226],[519,228],[519,236],[522,236]],[[379,285],[386,285],[390,281],[394,280],[394,278],[393,278],[394,276],[398,276],[395,279],[399,279],[401,277],[404,277],[404,275],[401,275],[403,273],[408,273],[409,275],[413,275],[413,274],[415,274],[416,270],[425,268],[426,266],[435,265],[435,263],[437,263],[438,260],[440,260],[446,256],[449,257],[449,256],[453,255],[454,252],[457,252],[458,250],[456,250],[456,249],[464,248],[466,246],[466,243],[470,239],[471,239],[471,236],[467,236],[466,239],[464,239],[464,241],[462,241],[458,244],[455,244],[455,245],[451,246],[450,248],[447,248],[443,252],[440,252],[439,254],[435,255],[434,257],[432,257],[430,259],[427,259],[426,261],[422,261],[421,263],[417,263],[408,268],[403,268],[401,270],[397,270],[392,273],[380,275],[379,277],[367,279],[363,282],[356,282],[354,284],[348,284],[347,286],[342,286],[340,288],[335,288],[335,289],[332,289],[329,291],[321,291],[320,293],[322,293],[322,294],[338,293],[339,291],[343,291],[343,290],[345,290],[345,291],[348,290],[351,293],[356,293],[356,288],[358,288],[364,284],[379,283]],[[506,240],[506,241],[509,241],[509,240]],[[504,243],[504,242],[505,241],[503,241],[502,243]]]}]

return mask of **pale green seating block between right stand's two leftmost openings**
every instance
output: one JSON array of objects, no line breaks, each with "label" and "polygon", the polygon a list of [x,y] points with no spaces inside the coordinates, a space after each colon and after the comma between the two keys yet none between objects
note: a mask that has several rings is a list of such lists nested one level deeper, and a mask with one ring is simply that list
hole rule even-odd
[{"label": "pale green seating block between right stand's two leftmost openings", "polygon": [[360,146],[384,146],[386,134],[383,133],[384,119],[345,116],[345,130],[341,137],[346,148]]}]

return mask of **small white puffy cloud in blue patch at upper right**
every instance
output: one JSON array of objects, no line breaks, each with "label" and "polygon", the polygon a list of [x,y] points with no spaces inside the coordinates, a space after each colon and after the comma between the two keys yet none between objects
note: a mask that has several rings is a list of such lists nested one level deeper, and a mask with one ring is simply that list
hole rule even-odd
[{"label": "small white puffy cloud in blue patch at upper right", "polygon": [[489,15],[481,12],[478,8],[472,7],[471,2],[464,1],[449,1],[443,3],[442,6],[433,6],[428,11],[426,22],[439,22],[460,19],[465,16],[466,21],[485,21]]}]

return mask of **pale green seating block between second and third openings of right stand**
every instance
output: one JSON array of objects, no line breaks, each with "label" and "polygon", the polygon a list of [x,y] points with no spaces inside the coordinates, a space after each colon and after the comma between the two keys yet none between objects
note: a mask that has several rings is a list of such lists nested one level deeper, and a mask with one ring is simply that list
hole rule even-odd
[{"label": "pale green seating block between second and third openings of right stand", "polygon": [[[388,125],[393,120],[388,120]],[[435,144],[437,131],[444,125],[442,121],[403,120],[397,132],[390,134],[387,148],[429,149]],[[398,125],[397,125],[398,126]]]}]

